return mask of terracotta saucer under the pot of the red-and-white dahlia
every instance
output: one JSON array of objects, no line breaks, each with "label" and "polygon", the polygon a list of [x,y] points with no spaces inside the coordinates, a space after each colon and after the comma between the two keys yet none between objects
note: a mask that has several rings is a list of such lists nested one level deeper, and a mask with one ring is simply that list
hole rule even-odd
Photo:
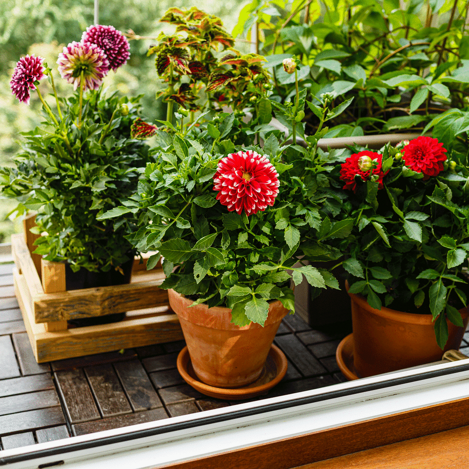
[{"label": "terracotta saucer under the pot of the red-and-white dahlia", "polygon": [[200,381],[193,368],[187,346],[177,356],[177,369],[187,384],[206,396],[218,399],[238,400],[267,394],[267,391],[280,382],[287,372],[287,359],[283,352],[272,344],[262,372],[254,383],[234,389],[210,386]]}]

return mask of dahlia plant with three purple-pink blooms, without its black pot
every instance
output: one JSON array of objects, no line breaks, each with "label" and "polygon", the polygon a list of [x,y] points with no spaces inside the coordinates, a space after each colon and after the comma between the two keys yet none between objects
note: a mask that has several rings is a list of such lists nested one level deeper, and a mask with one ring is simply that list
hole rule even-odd
[{"label": "dahlia plant with three purple-pink blooms, without its black pot", "polygon": [[[1,169],[1,195],[19,201],[19,214],[37,211],[37,231],[43,236],[36,252],[52,261],[66,259],[74,270],[107,271],[133,256],[124,238],[129,221],[96,219],[135,192],[149,161],[148,146],[130,136],[139,115],[138,98],[107,96],[102,89],[107,73],[128,57],[128,41],[120,31],[90,26],[57,60],[60,76],[73,85],[75,95],[60,98],[52,69],[34,55],[20,59],[10,82],[22,103],[29,104],[36,91],[45,122],[23,134],[14,159],[17,167]],[[50,82],[55,110],[38,87],[44,78]]]}]

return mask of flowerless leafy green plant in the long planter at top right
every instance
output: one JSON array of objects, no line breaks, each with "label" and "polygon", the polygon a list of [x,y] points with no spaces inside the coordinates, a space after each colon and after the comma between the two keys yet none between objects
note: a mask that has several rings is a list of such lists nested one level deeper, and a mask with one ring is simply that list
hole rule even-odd
[{"label": "flowerless leafy green plant in the long planter at top right", "polygon": [[[442,109],[465,106],[469,49],[460,6],[457,1],[403,8],[382,1],[256,0],[244,7],[235,35],[251,35],[257,52],[266,55],[277,101],[295,95],[294,80],[281,67],[284,58],[295,55],[300,86],[308,89],[310,101],[327,92],[334,96],[333,106],[347,105],[331,121],[324,145],[332,145],[332,137],[354,137],[365,146],[364,134],[420,133]],[[446,12],[448,18],[442,16]],[[320,118],[314,109],[307,111],[303,122],[309,134]],[[391,139],[385,135],[373,148]]]}]

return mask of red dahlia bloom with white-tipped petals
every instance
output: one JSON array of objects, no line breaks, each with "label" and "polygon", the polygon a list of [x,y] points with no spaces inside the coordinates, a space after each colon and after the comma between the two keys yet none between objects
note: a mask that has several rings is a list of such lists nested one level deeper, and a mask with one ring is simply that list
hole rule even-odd
[{"label": "red dahlia bloom with white-tipped petals", "polygon": [[278,173],[272,163],[255,151],[231,153],[218,162],[213,176],[217,200],[230,212],[252,215],[274,205],[278,195]]}]

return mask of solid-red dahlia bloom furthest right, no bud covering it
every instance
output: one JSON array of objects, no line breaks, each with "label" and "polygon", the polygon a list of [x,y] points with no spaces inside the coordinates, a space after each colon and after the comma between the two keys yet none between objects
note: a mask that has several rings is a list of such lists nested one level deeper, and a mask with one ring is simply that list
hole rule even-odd
[{"label": "solid-red dahlia bloom furthest right, no bud covering it", "polygon": [[412,171],[423,172],[424,179],[428,179],[443,171],[443,162],[447,159],[446,151],[436,138],[417,137],[404,147],[402,159],[405,166]]}]

